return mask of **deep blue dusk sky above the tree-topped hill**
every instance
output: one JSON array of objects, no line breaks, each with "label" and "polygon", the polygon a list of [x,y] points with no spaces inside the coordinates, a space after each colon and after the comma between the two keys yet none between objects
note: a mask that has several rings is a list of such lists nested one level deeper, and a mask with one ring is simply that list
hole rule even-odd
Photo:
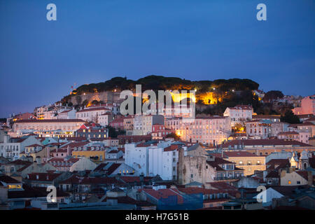
[{"label": "deep blue dusk sky above the tree-topped hill", "polygon": [[0,0],[0,117],[56,102],[73,83],[151,74],[314,94],[315,1]]}]

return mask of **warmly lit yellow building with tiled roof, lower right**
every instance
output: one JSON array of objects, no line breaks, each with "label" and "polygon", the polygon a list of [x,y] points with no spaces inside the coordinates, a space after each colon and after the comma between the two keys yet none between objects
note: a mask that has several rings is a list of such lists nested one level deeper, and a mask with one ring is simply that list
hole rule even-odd
[{"label": "warmly lit yellow building with tiled roof, lower right", "polygon": [[254,174],[255,170],[266,170],[265,156],[253,155],[252,153],[237,151],[224,152],[228,158],[224,158],[230,162],[235,162],[235,166],[244,169],[244,176]]}]

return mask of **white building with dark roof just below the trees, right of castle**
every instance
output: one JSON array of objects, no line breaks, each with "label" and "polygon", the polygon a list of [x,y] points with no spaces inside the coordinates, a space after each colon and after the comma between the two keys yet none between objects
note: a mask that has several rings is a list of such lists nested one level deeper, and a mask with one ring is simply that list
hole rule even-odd
[{"label": "white building with dark roof just below the trees, right of castle", "polygon": [[223,116],[230,117],[231,127],[235,127],[237,123],[244,124],[251,120],[253,116],[253,107],[248,105],[237,105],[235,107],[228,107],[225,109]]}]

